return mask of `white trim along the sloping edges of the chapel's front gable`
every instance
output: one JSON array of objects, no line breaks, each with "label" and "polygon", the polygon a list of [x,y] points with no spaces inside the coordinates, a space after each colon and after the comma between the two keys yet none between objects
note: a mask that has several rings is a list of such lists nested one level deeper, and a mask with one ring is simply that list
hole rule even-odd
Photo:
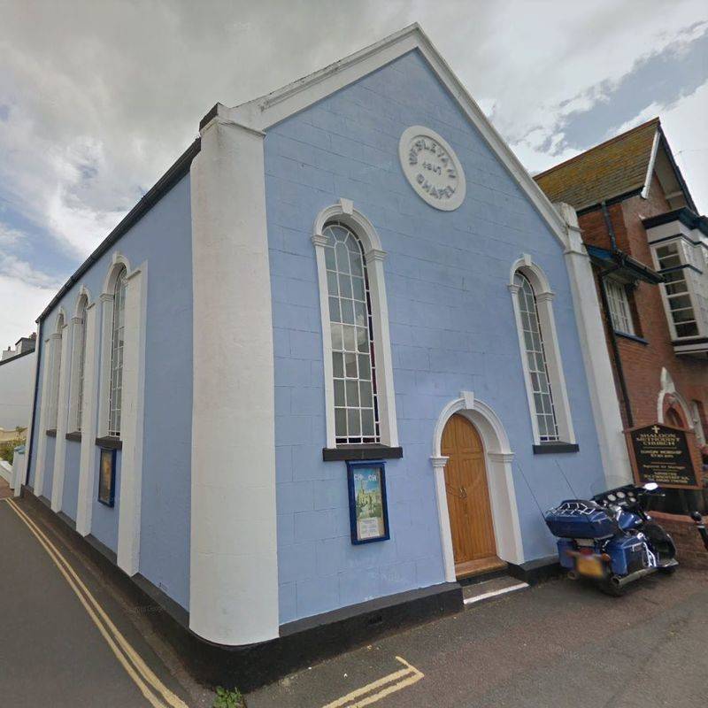
[{"label": "white trim along the sloping edges of the chapel's front gable", "polygon": [[324,69],[293,81],[282,89],[227,109],[227,115],[243,126],[266,131],[269,127],[303,111],[412,50],[419,50],[473,126],[480,131],[489,148],[502,161],[519,187],[526,192],[558,242],[565,246],[565,224],[558,216],[558,212],[417,23],[404,27],[380,42],[350,54],[349,57],[340,59]]}]

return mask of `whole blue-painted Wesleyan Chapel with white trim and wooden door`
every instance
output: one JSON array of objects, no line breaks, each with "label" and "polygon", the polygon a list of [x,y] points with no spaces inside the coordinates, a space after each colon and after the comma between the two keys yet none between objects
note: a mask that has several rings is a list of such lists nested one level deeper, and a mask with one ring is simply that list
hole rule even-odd
[{"label": "whole blue-painted Wesleyan Chapel with white trim and wooden door", "polygon": [[528,573],[616,467],[567,210],[417,25],[200,128],[42,314],[35,494],[212,644]]}]

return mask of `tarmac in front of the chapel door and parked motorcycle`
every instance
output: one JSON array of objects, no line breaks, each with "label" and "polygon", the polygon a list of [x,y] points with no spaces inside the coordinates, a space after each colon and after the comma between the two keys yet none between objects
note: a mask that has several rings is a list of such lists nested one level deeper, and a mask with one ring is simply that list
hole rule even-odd
[{"label": "tarmac in front of the chapel door and parked motorcycle", "polygon": [[621,598],[550,581],[312,666],[247,703],[696,708],[708,702],[707,615],[700,571],[646,578]]}]

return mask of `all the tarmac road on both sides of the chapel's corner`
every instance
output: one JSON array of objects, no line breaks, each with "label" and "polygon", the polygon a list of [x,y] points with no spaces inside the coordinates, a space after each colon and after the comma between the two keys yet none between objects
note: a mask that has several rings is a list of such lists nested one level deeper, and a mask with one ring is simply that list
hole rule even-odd
[{"label": "all the tarmac road on both sides of the chapel's corner", "polygon": [[[135,608],[19,512],[0,501],[0,706],[211,705],[151,649]],[[550,581],[312,666],[247,703],[696,708],[708,702],[707,615],[705,572],[651,576],[622,598]]]}]

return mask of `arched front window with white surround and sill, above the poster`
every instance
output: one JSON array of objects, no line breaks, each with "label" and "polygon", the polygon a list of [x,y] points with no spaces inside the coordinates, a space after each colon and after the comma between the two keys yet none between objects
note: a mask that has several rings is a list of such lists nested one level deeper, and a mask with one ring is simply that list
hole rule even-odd
[{"label": "arched front window with white surround and sill, above the poster", "polygon": [[369,219],[348,199],[319,212],[314,223],[322,319],[327,441],[337,447],[377,445],[377,454],[400,457],[384,285],[386,252]]}]

